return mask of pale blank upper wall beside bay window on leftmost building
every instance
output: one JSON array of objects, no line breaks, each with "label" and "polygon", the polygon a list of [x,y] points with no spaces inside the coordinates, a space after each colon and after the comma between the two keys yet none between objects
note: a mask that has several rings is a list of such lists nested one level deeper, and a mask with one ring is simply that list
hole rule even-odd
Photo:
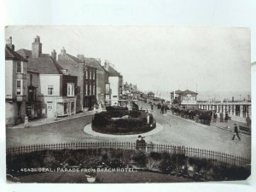
[{"label": "pale blank upper wall beside bay window on leftmost building", "polygon": [[16,67],[15,61],[5,61],[5,98],[15,99]]}]

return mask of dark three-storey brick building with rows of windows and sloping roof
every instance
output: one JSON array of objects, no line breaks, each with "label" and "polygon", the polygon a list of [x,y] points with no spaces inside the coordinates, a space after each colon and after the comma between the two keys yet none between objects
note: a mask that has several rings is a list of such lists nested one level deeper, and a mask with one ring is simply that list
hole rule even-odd
[{"label": "dark three-storey brick building with rows of windows and sloping roof", "polygon": [[79,58],[69,55],[66,49],[61,49],[58,63],[67,73],[77,77],[77,112],[93,108],[96,101],[96,67],[86,65]]}]

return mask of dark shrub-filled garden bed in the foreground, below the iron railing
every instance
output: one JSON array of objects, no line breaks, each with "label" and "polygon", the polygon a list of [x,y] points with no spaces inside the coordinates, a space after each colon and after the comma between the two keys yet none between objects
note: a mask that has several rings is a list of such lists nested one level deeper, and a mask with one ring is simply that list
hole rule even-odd
[{"label": "dark shrub-filled garden bed in the foreground, below the iron railing", "polygon": [[[43,150],[27,154],[7,155],[7,174],[12,177],[20,177],[20,181],[22,177],[27,177],[27,180],[23,179],[22,182],[33,181],[31,180],[32,175],[35,175],[35,178],[40,178],[38,174],[44,175],[45,173],[53,174],[53,177],[58,174],[61,174],[61,177],[65,177],[66,174],[68,177],[72,177],[73,173],[73,179],[75,179],[76,174],[85,176],[87,172],[98,169],[112,170],[113,172],[108,172],[111,173],[108,176],[116,177],[115,170],[126,169],[127,171],[127,168],[130,168],[131,175],[134,177],[137,177],[140,172],[147,171],[189,178],[191,181],[244,180],[251,173],[249,166],[230,166],[212,160],[187,157],[185,154],[145,153],[141,150],[121,148]],[[73,172],[73,170],[77,171]],[[40,181],[39,178],[34,182]],[[8,179],[14,181],[10,177]],[[125,183],[125,180],[119,180],[119,182],[110,180],[109,183]],[[45,177],[42,181],[49,182],[49,180],[45,180]],[[79,181],[78,183],[80,183]],[[56,180],[55,182],[61,181]],[[67,181],[64,179],[63,182]],[[102,182],[107,182],[107,180],[103,179]],[[161,181],[157,180],[157,182]],[[172,182],[172,179],[166,182]]]}]

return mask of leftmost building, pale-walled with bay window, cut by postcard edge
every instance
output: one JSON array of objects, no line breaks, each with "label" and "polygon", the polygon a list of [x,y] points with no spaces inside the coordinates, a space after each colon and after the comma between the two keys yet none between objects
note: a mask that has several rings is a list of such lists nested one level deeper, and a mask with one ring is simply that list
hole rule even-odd
[{"label": "leftmost building, pale-walled with bay window, cut by postcard edge", "polygon": [[5,46],[5,115],[6,125],[23,122],[26,116],[27,60],[15,52],[12,38]]}]

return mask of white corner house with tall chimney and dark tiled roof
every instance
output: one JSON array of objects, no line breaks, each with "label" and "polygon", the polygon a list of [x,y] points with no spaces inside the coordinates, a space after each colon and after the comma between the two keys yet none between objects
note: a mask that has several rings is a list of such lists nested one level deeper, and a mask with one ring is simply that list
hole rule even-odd
[{"label": "white corner house with tall chimney and dark tiled roof", "polygon": [[40,37],[37,36],[32,43],[32,50],[20,49],[19,52],[26,56],[30,71],[28,90],[31,91],[31,99],[27,103],[27,111],[35,113],[35,108],[29,107],[33,108],[36,102],[41,102],[40,113],[43,117],[62,117],[76,113],[74,88],[77,77],[67,74],[67,70],[57,63],[55,50],[51,55],[43,54]]}]

